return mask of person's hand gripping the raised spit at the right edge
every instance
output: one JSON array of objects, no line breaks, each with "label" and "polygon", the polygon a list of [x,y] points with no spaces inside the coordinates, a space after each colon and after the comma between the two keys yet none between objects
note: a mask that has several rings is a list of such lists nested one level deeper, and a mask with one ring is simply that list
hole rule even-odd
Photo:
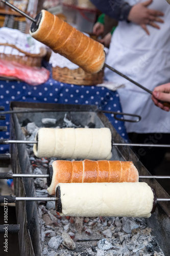
[{"label": "person's hand gripping the raised spit at the right edge", "polygon": [[159,106],[162,110],[169,111],[169,106],[163,105],[161,101],[170,102],[170,83],[162,84],[154,89],[152,94],[152,100],[156,106]]}]

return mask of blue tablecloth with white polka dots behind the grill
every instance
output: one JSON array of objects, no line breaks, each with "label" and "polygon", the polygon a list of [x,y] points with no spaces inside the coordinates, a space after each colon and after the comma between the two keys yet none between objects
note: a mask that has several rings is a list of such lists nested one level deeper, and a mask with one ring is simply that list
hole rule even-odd
[{"label": "blue tablecloth with white polka dots behind the grill", "polygon": [[[51,71],[51,66],[43,62],[43,66]],[[10,101],[47,102],[62,104],[97,105],[100,110],[122,112],[119,95],[105,87],[76,86],[56,81],[52,72],[47,82],[39,86],[30,86],[26,82],[16,80],[0,80],[0,105],[9,110]],[[117,133],[126,141],[128,135],[123,121],[118,121],[113,114],[105,114]],[[10,135],[9,114],[6,120],[0,120],[0,126],[7,126],[7,132],[0,132],[1,139],[8,139]],[[9,145],[0,145],[0,154],[8,153]]]}]

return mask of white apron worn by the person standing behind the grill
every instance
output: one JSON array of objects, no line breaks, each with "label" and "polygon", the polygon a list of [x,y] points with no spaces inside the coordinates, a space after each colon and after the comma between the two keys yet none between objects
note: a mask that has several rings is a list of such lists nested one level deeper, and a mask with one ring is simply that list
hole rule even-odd
[{"label": "white apron worn by the person standing behind the grill", "polygon": [[[127,2],[134,5],[144,1]],[[170,6],[166,1],[154,0],[149,8],[164,13],[164,23],[158,24],[160,30],[147,26],[147,35],[139,25],[119,22],[106,63],[153,91],[156,86],[170,82]],[[108,69],[105,75],[106,79],[126,86],[118,90],[123,112],[142,118],[138,123],[126,122],[128,133],[170,133],[170,112],[155,106],[151,94]]]}]

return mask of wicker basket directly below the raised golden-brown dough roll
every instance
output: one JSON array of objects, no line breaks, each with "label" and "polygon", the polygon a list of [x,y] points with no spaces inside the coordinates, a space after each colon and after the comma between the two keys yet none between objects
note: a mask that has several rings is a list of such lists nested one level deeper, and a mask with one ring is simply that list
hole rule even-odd
[{"label": "wicker basket directly below the raised golden-brown dough roll", "polygon": [[93,86],[103,83],[104,69],[95,74],[85,72],[82,68],[70,70],[68,68],[53,67],[53,79],[78,86]]}]

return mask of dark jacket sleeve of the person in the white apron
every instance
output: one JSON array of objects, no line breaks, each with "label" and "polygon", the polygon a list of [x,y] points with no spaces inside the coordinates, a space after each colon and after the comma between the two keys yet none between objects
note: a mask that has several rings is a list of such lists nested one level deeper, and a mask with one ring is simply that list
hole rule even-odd
[{"label": "dark jacket sleeve of the person in the white apron", "polygon": [[123,0],[90,0],[98,10],[117,20],[128,20],[132,8]]}]

